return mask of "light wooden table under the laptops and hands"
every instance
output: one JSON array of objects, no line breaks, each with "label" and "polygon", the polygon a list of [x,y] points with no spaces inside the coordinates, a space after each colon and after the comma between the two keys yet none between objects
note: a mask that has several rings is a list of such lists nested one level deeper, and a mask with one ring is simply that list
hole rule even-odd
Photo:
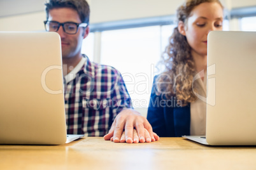
[{"label": "light wooden table under the laptops and hands", "polygon": [[256,169],[256,147],[207,147],[184,138],[66,145],[0,145],[0,169]]}]

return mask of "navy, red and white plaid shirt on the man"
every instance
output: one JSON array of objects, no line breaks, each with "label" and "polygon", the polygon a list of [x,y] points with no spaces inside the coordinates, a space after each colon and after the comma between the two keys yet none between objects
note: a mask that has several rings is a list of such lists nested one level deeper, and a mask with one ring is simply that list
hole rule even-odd
[{"label": "navy, red and white plaid shirt on the man", "polygon": [[132,108],[120,72],[82,60],[64,77],[68,134],[104,136],[123,108]]}]

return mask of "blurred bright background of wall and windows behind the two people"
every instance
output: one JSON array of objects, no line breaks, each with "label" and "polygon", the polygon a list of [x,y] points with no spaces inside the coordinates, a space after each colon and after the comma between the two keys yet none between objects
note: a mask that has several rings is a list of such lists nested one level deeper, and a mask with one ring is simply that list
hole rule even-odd
[{"label": "blurred bright background of wall and windows behind the two people", "polygon": [[[87,0],[90,34],[82,53],[111,65],[124,77],[134,108],[146,116],[153,76],[176,27],[175,12],[184,1]],[[224,30],[256,31],[255,0],[221,0]],[[44,31],[45,0],[0,0],[0,31]]]}]

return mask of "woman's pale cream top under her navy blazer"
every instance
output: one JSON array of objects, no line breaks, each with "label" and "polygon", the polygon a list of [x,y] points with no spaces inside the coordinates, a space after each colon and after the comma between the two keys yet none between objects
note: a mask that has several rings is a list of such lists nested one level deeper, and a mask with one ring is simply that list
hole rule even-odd
[{"label": "woman's pale cream top under her navy blazer", "polygon": [[[206,98],[207,73],[204,74],[204,81],[199,78],[194,81],[194,88],[197,95]],[[190,103],[190,135],[199,136],[206,134],[206,102],[197,98]]]}]

